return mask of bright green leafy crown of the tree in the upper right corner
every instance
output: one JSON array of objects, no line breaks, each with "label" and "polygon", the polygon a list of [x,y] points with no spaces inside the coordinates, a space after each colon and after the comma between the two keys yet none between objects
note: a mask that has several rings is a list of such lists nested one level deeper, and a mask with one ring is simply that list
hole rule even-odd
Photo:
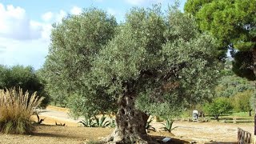
[{"label": "bright green leafy crown of the tree in the upper right corner", "polygon": [[185,11],[193,14],[199,29],[218,39],[220,55],[233,49],[234,72],[256,76],[256,1],[188,0]]}]

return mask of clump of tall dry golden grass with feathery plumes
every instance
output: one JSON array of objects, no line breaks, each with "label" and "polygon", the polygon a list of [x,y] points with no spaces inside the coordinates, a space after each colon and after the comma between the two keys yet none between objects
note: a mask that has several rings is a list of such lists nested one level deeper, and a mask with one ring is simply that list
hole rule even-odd
[{"label": "clump of tall dry golden grass with feathery plumes", "polygon": [[5,134],[31,134],[30,117],[43,98],[22,89],[0,90],[0,131]]}]

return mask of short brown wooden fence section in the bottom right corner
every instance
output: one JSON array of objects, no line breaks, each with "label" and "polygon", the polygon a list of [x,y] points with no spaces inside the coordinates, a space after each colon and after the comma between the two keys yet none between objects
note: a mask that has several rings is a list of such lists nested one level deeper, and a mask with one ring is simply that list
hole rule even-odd
[{"label": "short brown wooden fence section in the bottom right corner", "polygon": [[238,144],[255,144],[254,137],[246,130],[238,127]]}]

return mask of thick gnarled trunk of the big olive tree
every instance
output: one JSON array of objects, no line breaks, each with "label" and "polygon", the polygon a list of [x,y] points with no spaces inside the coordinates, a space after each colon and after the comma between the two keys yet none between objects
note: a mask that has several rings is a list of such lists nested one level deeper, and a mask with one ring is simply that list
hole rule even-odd
[{"label": "thick gnarled trunk of the big olive tree", "polygon": [[116,127],[109,137],[103,139],[108,143],[148,143],[146,139],[146,121],[148,115],[134,108],[134,95],[125,95],[118,102]]}]

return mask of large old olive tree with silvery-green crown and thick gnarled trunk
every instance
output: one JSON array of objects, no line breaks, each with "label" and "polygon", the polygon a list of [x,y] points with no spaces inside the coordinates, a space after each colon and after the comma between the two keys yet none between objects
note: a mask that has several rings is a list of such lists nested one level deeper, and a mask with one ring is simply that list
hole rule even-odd
[{"label": "large old olive tree with silvery-green crown and thick gnarled trunk", "polygon": [[75,114],[114,112],[106,142],[147,143],[149,114],[172,115],[212,96],[214,39],[178,10],[134,8],[117,24],[102,10],[64,18],[52,30],[44,70],[66,90]]}]

